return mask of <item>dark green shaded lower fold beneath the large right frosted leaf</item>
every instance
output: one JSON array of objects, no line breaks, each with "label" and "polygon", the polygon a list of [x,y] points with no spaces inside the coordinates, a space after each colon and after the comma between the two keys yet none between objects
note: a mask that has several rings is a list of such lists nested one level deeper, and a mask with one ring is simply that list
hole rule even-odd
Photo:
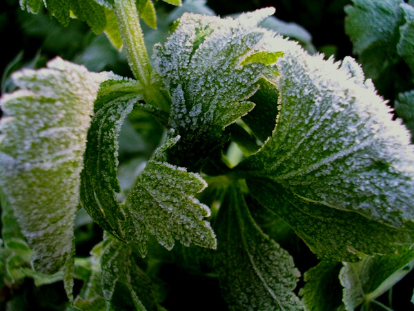
[{"label": "dark green shaded lower fold beneath the large right frosted leaf", "polygon": [[288,223],[321,259],[357,261],[359,252],[395,252],[395,244],[411,244],[414,224],[392,228],[357,212],[337,210],[297,197],[270,179],[247,179],[253,196]]}]

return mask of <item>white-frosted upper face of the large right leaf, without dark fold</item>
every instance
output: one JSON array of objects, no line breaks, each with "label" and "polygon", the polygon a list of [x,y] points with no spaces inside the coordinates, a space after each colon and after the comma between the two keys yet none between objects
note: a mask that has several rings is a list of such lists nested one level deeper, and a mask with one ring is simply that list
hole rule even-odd
[{"label": "white-frosted upper face of the large right leaf, without dark fold", "polygon": [[277,61],[279,114],[272,137],[241,165],[302,201],[400,228],[414,219],[414,149],[350,57],[311,56],[295,43]]}]

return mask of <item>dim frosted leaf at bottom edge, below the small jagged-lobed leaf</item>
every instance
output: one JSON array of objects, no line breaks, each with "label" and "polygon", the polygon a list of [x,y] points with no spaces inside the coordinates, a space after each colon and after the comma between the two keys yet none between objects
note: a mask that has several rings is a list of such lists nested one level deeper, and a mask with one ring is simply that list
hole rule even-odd
[{"label": "dim frosted leaf at bottom edge, below the small jagged-lobed leaf", "polygon": [[107,236],[101,250],[101,286],[107,310],[157,310],[150,280],[130,244]]}]

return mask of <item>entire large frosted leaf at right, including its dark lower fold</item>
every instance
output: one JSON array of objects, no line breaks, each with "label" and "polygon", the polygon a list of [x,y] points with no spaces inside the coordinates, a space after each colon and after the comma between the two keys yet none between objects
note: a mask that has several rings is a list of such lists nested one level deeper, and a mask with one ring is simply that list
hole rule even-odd
[{"label": "entire large frosted leaf at right, including its dark lower fold", "polygon": [[[262,179],[248,179],[253,195],[319,257],[355,261],[357,251],[393,252],[394,243],[412,243],[414,150],[404,126],[391,121],[353,59],[333,63],[281,38],[272,44],[284,52],[277,126],[239,167]],[[351,239],[329,237],[338,228]],[[388,232],[376,243],[374,228]]]}]

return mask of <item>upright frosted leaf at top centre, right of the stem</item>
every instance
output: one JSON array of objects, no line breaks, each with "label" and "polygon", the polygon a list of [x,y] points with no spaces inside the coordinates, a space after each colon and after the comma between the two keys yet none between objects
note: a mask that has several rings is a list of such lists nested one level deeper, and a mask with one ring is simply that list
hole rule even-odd
[{"label": "upright frosted leaf at top centre, right of the stem", "polygon": [[[223,129],[253,109],[246,99],[257,91],[259,78],[273,72],[268,63],[278,51],[266,48],[275,34],[257,23],[273,12],[267,8],[237,19],[184,14],[164,46],[155,46],[155,66],[172,98],[169,126],[181,135],[169,152],[172,163],[197,168],[222,146]],[[183,162],[182,154],[198,162]]]}]

